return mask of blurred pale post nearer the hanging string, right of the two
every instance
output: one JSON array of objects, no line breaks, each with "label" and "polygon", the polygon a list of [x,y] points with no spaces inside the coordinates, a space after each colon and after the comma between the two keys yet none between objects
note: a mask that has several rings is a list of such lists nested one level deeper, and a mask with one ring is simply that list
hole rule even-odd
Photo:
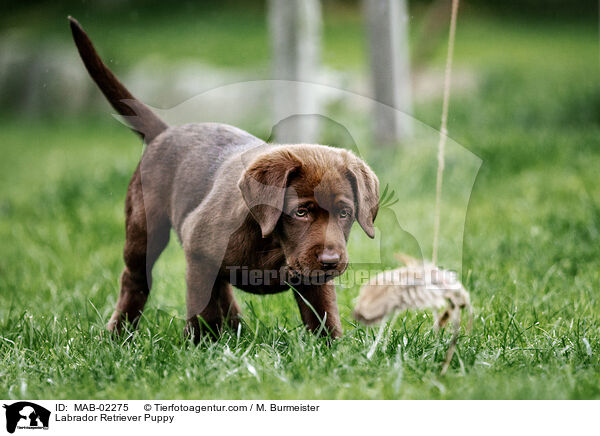
[{"label": "blurred pale post nearer the hanging string, right of the two", "polygon": [[364,0],[375,139],[393,144],[411,135],[412,92],[406,0]]}]

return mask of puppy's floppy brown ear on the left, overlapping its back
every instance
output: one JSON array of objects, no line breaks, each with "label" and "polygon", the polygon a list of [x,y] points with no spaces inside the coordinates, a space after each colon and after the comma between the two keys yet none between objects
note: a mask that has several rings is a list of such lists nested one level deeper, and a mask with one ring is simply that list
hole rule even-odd
[{"label": "puppy's floppy brown ear on the left, overlapping its back", "polygon": [[254,160],[238,182],[244,202],[260,225],[263,238],[270,235],[283,211],[290,175],[302,165],[287,150],[266,153]]}]

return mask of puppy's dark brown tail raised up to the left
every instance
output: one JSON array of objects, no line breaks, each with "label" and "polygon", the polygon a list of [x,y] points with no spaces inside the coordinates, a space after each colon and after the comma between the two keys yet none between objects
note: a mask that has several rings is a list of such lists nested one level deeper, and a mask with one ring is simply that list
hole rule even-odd
[{"label": "puppy's dark brown tail raised up to the left", "polygon": [[73,17],[68,17],[71,23],[73,40],[77,45],[79,55],[85,68],[96,82],[112,107],[121,114],[127,123],[148,144],[168,126],[148,106],[136,99],[123,86],[119,79],[102,62],[92,41],[81,25]]}]

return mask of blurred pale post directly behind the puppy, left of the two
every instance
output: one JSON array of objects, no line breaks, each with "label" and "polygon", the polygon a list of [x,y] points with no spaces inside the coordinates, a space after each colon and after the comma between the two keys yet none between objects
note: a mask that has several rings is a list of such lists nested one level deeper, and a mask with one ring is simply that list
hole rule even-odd
[{"label": "blurred pale post directly behind the puppy, left of the two", "polygon": [[[320,0],[270,0],[269,25],[273,77],[315,82],[319,74],[321,43]],[[279,120],[298,114],[318,114],[319,96],[290,82],[276,83],[274,109]],[[298,116],[277,131],[278,142],[315,142],[318,119]]]}]

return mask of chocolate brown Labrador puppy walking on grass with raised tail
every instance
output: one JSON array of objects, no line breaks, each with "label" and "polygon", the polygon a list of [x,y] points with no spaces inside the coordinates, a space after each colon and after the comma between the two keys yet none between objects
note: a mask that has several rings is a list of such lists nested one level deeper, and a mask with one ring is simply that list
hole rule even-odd
[{"label": "chocolate brown Labrador puppy walking on grass with raised tail", "polygon": [[69,20],[89,74],[146,143],[127,191],[125,269],[108,329],[137,323],[173,228],[187,261],[186,332],[195,341],[224,321],[237,327],[232,284],[255,294],[292,287],[308,329],[340,336],[332,279],[348,264],[352,223],[374,237],[373,171],[347,150],[267,144],[225,124],[169,127],[127,91]]}]

